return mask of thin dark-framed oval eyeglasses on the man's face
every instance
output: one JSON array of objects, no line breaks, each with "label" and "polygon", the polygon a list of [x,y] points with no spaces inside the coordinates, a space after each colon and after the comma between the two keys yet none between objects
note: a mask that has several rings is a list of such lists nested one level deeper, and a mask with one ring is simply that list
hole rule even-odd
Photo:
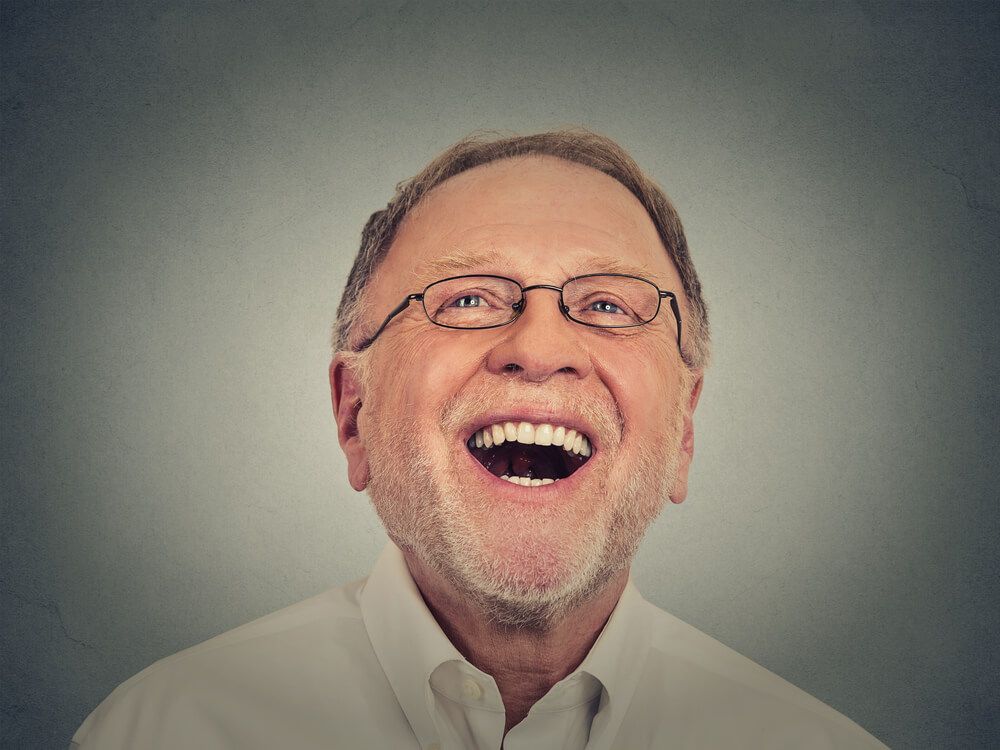
[{"label": "thin dark-framed oval eyeglasses on the man's face", "polygon": [[559,292],[559,311],[574,323],[591,328],[635,328],[646,325],[660,312],[660,303],[670,300],[677,321],[677,348],[681,346],[681,313],[677,297],[638,276],[621,273],[591,273],[574,276],[561,287],[551,284],[521,286],[505,276],[452,276],[435,281],[419,294],[408,294],[389,313],[382,325],[354,351],[371,346],[389,322],[419,301],[428,320],[442,328],[462,330],[499,328],[513,323],[524,312],[525,293],[533,289]]}]

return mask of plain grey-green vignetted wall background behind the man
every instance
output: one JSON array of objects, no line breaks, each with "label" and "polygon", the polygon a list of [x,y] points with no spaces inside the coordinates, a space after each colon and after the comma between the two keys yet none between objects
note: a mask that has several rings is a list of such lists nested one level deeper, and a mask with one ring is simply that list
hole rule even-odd
[{"label": "plain grey-green vignetted wall background behind the man", "polygon": [[1000,740],[994,3],[21,3],[3,20],[3,744],[366,573],[325,367],[368,213],[585,124],[711,305],[647,597],[894,747]]}]

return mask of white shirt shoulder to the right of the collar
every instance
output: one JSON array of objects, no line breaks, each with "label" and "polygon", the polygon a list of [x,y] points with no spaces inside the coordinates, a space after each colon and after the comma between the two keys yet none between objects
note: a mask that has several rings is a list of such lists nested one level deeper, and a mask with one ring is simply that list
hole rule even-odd
[{"label": "white shirt shoulder to the right of the collar", "polygon": [[683,727],[699,747],[884,748],[773,672],[652,604],[643,606],[650,648],[630,706],[634,722],[669,727],[675,740]]}]

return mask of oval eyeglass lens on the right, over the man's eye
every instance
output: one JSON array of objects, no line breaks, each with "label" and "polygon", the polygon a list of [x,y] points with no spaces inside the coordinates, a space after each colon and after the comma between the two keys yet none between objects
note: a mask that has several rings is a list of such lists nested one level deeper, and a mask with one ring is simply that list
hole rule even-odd
[{"label": "oval eyeglass lens on the right, over the man's eye", "polygon": [[566,282],[563,302],[579,323],[627,328],[656,317],[660,292],[652,282],[631,276],[582,276]]}]

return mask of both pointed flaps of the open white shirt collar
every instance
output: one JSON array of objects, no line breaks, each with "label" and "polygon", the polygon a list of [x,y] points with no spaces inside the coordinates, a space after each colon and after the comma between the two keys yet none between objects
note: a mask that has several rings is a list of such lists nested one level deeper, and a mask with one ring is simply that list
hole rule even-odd
[{"label": "both pointed flaps of the open white shirt collar", "polygon": [[[603,688],[588,748],[610,746],[632,700],[649,648],[645,605],[630,578],[590,653],[567,677],[569,680],[582,672],[597,679]],[[392,542],[382,551],[361,592],[361,616],[400,707],[417,740],[426,746],[437,735],[430,713],[431,674],[449,661],[475,667],[437,624],[410,576],[403,553]]]}]

